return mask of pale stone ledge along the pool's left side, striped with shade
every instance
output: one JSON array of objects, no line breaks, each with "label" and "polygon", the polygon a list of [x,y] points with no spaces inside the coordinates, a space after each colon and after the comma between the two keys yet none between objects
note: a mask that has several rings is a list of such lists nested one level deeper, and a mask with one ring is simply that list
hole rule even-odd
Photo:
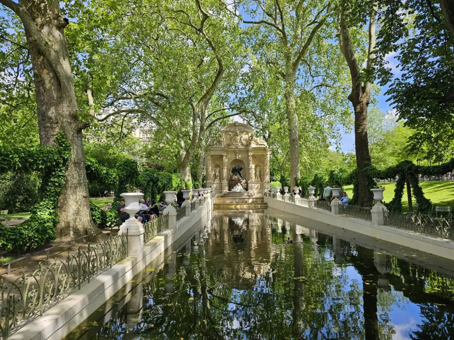
[{"label": "pale stone ledge along the pool's left side, striped with shade", "polygon": [[112,268],[90,278],[90,283],[83,283],[80,290],[74,289],[42,316],[20,327],[8,337],[8,340],[61,340],[144,270],[174,241],[195,226],[205,212],[209,213],[209,210],[203,206],[191,211],[190,216],[177,222],[175,229],[166,229],[146,243],[142,257],[127,257]]}]

